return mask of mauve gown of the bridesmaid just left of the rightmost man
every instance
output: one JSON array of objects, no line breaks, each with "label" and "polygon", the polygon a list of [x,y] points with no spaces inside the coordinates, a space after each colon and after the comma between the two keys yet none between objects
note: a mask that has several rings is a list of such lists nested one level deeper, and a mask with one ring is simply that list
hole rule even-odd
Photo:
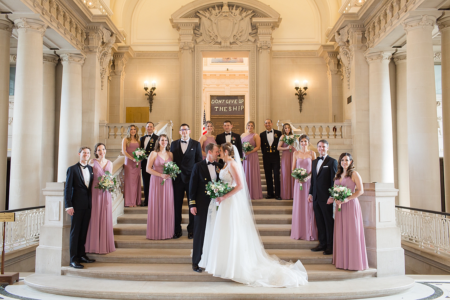
[{"label": "mauve gown of the bridesmaid just left of the rightmost man", "polygon": [[[311,173],[311,164],[310,157],[297,158],[297,168],[306,169],[308,173]],[[295,180],[291,228],[291,238],[295,240],[314,241],[318,239],[314,210],[312,203],[308,202],[310,184],[311,179],[308,179],[302,183],[303,189],[300,190],[300,184]]]}]

